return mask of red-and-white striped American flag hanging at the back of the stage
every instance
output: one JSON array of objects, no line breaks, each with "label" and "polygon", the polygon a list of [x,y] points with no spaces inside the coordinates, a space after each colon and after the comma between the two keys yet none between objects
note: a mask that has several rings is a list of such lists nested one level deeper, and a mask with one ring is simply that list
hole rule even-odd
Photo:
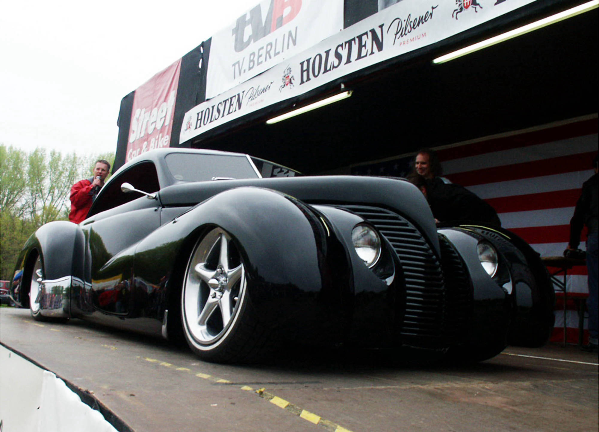
[{"label": "red-and-white striped American flag hanging at the back of the stage", "polygon": [[[598,121],[593,117],[449,145],[438,148],[437,154],[444,177],[486,200],[504,228],[521,236],[541,257],[550,257],[561,256],[568,244],[570,218],[582,184],[594,174],[598,140]],[[352,173],[403,176],[412,158],[356,166]],[[568,270],[567,289],[573,296],[588,293],[585,266]],[[562,306],[558,297],[555,340],[563,337]],[[576,342],[577,312],[568,310],[566,320],[568,340]]]}]

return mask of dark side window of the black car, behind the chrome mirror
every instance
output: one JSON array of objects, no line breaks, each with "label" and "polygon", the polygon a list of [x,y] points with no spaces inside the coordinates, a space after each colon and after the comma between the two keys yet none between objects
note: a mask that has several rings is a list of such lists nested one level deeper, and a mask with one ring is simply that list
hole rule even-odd
[{"label": "dark side window of the black car, behind the chrome mirror", "polygon": [[120,190],[120,185],[124,182],[131,183],[133,187],[144,192],[152,193],[160,190],[158,183],[158,174],[153,162],[141,162],[131,166],[127,171],[123,171],[116,177],[110,179],[107,185],[102,188],[92,205],[87,217],[98,214],[111,208],[123,205],[139,198],[141,193],[125,193]]}]

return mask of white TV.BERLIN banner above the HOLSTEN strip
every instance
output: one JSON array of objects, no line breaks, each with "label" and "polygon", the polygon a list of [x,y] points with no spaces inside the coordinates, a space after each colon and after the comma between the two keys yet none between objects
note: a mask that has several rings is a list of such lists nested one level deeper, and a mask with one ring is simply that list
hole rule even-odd
[{"label": "white TV.BERLIN banner above the HOLSTEN strip", "polygon": [[206,98],[266,71],[343,29],[343,0],[262,0],[212,36]]}]

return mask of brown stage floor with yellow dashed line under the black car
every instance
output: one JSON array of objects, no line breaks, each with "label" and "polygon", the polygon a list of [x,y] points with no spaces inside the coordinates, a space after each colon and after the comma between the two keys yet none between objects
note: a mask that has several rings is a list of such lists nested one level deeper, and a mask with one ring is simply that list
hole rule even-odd
[{"label": "brown stage floor with yellow dashed line under the black car", "polygon": [[[598,355],[509,347],[471,365],[409,352],[313,351],[261,364],[199,360],[165,340],[0,308],[0,342],[90,394],[121,430],[597,431]],[[6,391],[6,389],[2,390]]]}]

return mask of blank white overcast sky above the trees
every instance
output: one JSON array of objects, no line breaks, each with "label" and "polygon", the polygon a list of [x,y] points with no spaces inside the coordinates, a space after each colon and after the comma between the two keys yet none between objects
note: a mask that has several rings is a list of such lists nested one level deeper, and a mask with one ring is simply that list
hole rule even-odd
[{"label": "blank white overcast sky above the trees", "polygon": [[2,2],[0,144],[116,151],[120,100],[259,2]]}]

